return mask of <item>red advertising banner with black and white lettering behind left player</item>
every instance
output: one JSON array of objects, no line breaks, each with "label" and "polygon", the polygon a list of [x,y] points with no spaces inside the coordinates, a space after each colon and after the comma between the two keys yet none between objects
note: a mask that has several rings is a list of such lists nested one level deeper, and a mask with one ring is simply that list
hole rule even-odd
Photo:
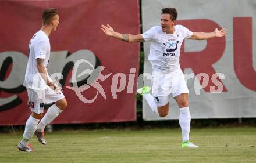
[{"label": "red advertising banner with black and white lettering behind left player", "polygon": [[60,24],[49,36],[48,73],[62,74],[68,103],[52,123],[136,120],[140,44],[107,37],[101,24],[140,33],[137,0],[0,1],[0,125],[23,125],[31,114],[22,84],[29,41],[42,26],[45,8],[59,11]]}]

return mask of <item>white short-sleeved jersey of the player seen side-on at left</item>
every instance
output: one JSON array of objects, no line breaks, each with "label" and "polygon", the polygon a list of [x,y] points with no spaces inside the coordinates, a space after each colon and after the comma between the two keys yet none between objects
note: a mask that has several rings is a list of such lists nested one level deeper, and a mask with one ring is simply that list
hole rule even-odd
[{"label": "white short-sleeved jersey of the player seen side-on at left", "polygon": [[29,43],[29,61],[27,62],[24,86],[35,90],[44,90],[47,88],[45,81],[38,72],[36,59],[45,59],[44,66],[47,69],[50,52],[51,45],[45,32],[40,30],[35,33]]}]

